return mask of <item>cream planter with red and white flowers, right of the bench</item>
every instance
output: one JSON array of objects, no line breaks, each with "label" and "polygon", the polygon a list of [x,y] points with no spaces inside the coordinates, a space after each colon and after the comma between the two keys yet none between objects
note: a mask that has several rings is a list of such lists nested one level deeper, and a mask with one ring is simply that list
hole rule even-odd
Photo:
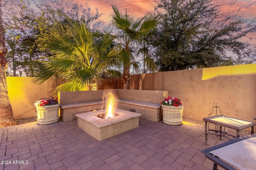
[{"label": "cream planter with red and white flowers, right of the bench", "polygon": [[168,98],[161,102],[163,109],[163,122],[168,125],[181,125],[183,115],[183,103],[178,98]]}]

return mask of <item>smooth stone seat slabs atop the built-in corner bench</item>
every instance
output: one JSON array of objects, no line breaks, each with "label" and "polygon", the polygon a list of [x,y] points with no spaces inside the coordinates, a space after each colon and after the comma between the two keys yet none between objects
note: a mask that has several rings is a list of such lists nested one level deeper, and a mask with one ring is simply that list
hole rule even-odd
[{"label": "smooth stone seat slabs atop the built-in corner bench", "polygon": [[[132,104],[132,105],[136,105],[136,106],[156,108],[156,109],[161,108],[161,104],[152,103],[152,102],[142,102],[142,101],[126,100],[126,99],[117,99],[117,102]],[[73,104],[64,104],[64,105],[61,105],[60,107],[62,109],[68,109],[68,108],[73,108],[73,107],[89,106],[89,105],[104,104],[104,103],[105,102],[103,100],[98,100],[98,101],[91,101],[91,102],[80,102],[80,103],[73,103]]]}]

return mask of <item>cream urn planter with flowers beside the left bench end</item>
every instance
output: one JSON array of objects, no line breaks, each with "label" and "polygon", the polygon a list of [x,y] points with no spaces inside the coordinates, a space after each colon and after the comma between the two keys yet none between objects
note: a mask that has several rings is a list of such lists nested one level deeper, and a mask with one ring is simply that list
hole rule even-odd
[{"label": "cream urn planter with flowers beside the left bench end", "polygon": [[39,125],[49,125],[59,121],[58,98],[42,98],[36,101],[35,106]]}]

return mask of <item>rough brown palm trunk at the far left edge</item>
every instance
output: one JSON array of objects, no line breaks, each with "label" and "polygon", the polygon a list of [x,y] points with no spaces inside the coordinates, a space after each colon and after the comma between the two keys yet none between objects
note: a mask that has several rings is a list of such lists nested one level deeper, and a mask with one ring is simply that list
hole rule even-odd
[{"label": "rough brown palm trunk at the far left edge", "polygon": [[2,4],[0,1],[0,123],[13,121],[12,106],[8,95],[6,82],[7,61],[5,53],[7,52],[5,46],[5,34],[2,21]]}]

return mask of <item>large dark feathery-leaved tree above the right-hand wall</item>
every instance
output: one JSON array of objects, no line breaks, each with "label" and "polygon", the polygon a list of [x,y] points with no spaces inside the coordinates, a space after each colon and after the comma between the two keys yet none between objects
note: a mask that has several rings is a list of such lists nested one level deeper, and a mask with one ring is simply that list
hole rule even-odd
[{"label": "large dark feathery-leaved tree above the right-hand wall", "polygon": [[236,11],[222,13],[223,6],[214,0],[160,0],[160,24],[150,38],[158,69],[232,65],[227,51],[242,55],[249,43],[240,39],[255,33],[256,25]]}]

